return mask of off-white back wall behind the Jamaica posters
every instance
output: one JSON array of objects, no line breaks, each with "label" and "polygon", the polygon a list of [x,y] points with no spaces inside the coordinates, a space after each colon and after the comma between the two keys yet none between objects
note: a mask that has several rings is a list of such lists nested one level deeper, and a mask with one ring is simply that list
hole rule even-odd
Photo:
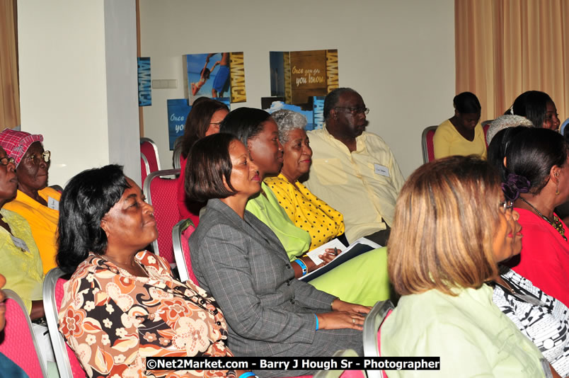
[{"label": "off-white back wall behind the Jamaica posters", "polygon": [[371,109],[368,129],[393,149],[403,174],[423,163],[421,132],[452,115],[453,0],[185,1],[140,0],[141,55],[153,89],[144,134],[171,167],[166,100],[183,98],[182,55],[243,51],[246,103],[270,96],[269,51],[338,49],[340,86],[359,91]]}]

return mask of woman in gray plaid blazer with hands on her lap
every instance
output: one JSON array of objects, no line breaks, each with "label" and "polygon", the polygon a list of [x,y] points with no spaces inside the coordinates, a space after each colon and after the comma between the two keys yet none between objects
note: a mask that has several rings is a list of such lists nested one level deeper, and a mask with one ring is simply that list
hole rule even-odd
[{"label": "woman in gray plaid blazer with hands on her lap", "polygon": [[[294,278],[277,236],[246,202],[260,177],[246,147],[230,134],[198,141],[188,155],[185,190],[207,200],[190,236],[192,268],[229,325],[238,356],[331,356],[352,348],[362,355],[362,324],[369,307],[343,302]],[[264,371],[289,377],[310,371]]]}]

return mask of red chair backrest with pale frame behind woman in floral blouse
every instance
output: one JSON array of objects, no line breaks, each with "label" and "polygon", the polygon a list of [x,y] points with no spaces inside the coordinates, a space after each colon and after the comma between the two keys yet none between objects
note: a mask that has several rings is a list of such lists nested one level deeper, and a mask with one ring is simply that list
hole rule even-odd
[{"label": "red chair backrest with pale frame behind woman in floral blouse", "polygon": [[45,319],[47,320],[47,329],[50,331],[50,339],[52,340],[53,353],[60,378],[84,378],[85,371],[81,367],[79,360],[69,345],[65,343],[63,335],[59,333],[59,321],[57,313],[63,300],[63,284],[67,282],[67,278],[63,278],[64,273],[59,268],[53,268],[43,282],[43,308],[45,310]]}]

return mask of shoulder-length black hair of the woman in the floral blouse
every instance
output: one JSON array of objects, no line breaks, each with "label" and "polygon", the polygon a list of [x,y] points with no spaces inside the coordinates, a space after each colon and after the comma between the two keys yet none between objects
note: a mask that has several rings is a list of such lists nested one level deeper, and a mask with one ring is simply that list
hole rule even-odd
[{"label": "shoulder-length black hair of the woman in the floral blouse", "polygon": [[104,255],[107,235],[100,221],[130,188],[122,166],[88,169],[69,180],[59,200],[57,265],[73,273],[89,252]]}]

